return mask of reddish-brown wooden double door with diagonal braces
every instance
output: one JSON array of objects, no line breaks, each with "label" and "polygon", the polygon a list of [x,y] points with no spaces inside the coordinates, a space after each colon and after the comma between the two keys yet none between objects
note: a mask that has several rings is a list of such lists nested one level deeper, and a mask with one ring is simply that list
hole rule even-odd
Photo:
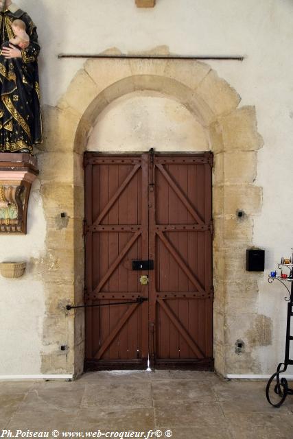
[{"label": "reddish-brown wooden double door with diagonal braces", "polygon": [[213,368],[211,162],[86,152],[87,370]]}]

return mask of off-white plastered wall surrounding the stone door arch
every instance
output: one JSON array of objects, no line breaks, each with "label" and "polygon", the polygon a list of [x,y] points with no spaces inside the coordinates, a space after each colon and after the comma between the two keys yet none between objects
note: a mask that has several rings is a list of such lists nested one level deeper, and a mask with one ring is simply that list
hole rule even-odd
[{"label": "off-white plastered wall surrounding the stone door arch", "polygon": [[[266,272],[259,282],[255,311],[272,318],[273,340],[270,346],[255,348],[253,355],[259,373],[272,372],[283,358],[285,290],[268,285],[266,278],[282,255],[290,255],[293,246],[292,1],[158,0],[156,8],[150,10],[137,9],[134,0],[84,0],[82,5],[69,0],[16,3],[38,25],[43,48],[39,62],[43,104],[56,105],[84,62],[58,60],[59,53],[92,54],[110,47],[139,53],[167,45],[178,55],[245,56],[244,62],[209,64],[237,90],[242,105],[255,105],[258,130],[265,143],[258,155],[256,181],[263,187],[263,209],[255,219],[253,241],[266,250]],[[165,49],[158,49],[158,53],[160,50]],[[42,257],[46,223],[37,182],[32,189],[36,199],[30,201],[28,235],[1,235],[1,261]],[[42,281],[33,267],[19,281],[0,279],[5,321],[3,327],[1,320],[0,375],[39,372],[45,310],[42,291]]]}]

